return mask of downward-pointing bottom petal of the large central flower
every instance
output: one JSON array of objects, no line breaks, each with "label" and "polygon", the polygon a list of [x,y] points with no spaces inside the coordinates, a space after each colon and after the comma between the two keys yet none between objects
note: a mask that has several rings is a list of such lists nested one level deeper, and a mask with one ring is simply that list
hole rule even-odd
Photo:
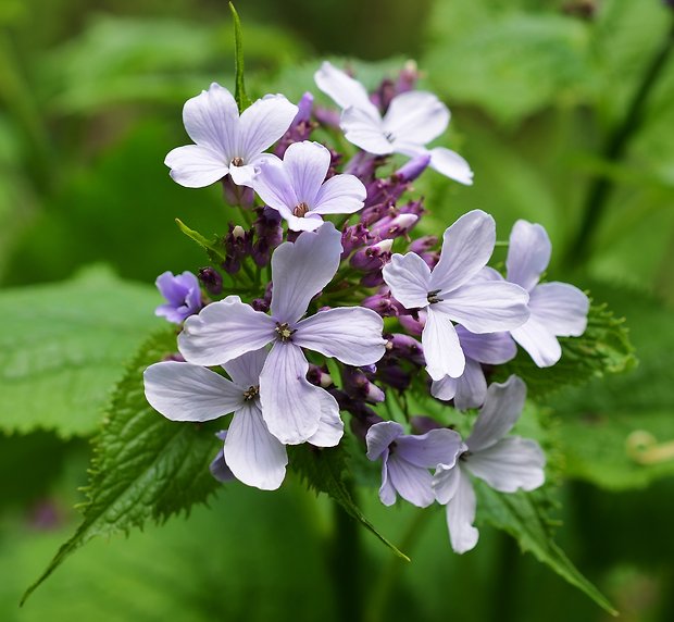
[{"label": "downward-pointing bottom petal of the large central flower", "polygon": [[262,415],[284,445],[309,440],[321,422],[321,398],[307,380],[309,363],[292,344],[274,344],[260,376]]}]

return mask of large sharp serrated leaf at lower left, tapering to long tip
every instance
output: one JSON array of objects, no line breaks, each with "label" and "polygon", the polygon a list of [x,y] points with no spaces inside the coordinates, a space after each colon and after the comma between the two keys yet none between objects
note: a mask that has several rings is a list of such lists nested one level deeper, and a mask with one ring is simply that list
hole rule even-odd
[{"label": "large sharp serrated leaf at lower left, tapering to long tip", "polygon": [[164,419],[147,402],[142,372],[175,350],[175,334],[150,338],[110,400],[95,441],[84,521],[22,604],[61,563],[96,536],[128,533],[204,502],[217,486],[209,464],[217,441],[209,426]]}]

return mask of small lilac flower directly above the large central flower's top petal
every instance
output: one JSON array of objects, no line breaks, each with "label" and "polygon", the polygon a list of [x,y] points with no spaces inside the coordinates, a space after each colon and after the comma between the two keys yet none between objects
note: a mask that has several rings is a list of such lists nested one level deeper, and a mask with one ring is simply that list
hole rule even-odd
[{"label": "small lilac flower directly above the large central flower's top petal", "polygon": [[294,142],[284,159],[262,162],[252,179],[260,198],[288,221],[292,231],[314,231],[326,214],[351,214],[363,208],[365,186],[353,175],[325,181],[330,152],[319,142]]}]

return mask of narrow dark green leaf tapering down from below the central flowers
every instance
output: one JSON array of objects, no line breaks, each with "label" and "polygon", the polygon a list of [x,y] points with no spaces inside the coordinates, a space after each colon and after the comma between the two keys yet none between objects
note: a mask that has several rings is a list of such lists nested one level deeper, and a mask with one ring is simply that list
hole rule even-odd
[{"label": "narrow dark green leaf tapering down from below the central flowers", "polygon": [[344,441],[337,447],[324,449],[307,445],[288,447],[288,455],[291,469],[304,480],[310,488],[316,493],[325,493],[339,503],[352,519],[379,538],[394,553],[405,561],[410,561],[407,555],[377,531],[353,501],[346,484],[347,452]]}]

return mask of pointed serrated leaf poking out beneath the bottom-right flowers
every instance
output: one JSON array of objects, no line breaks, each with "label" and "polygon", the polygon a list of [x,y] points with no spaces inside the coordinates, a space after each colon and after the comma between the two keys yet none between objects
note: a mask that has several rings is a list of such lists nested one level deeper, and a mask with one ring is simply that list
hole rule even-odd
[{"label": "pointed serrated leaf poking out beneath the bottom-right flowers", "polygon": [[544,500],[536,493],[497,493],[486,484],[475,481],[478,518],[512,535],[524,551],[552,569],[602,609],[617,615],[617,611],[566,557],[552,539],[551,522]]}]

